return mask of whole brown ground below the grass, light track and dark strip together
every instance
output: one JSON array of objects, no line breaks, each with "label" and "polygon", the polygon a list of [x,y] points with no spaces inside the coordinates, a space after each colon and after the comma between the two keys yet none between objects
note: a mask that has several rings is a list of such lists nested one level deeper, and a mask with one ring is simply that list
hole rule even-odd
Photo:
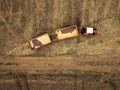
[{"label": "whole brown ground below the grass, light track and dark strip together", "polygon": [[0,57],[0,90],[120,90],[119,57]]}]

